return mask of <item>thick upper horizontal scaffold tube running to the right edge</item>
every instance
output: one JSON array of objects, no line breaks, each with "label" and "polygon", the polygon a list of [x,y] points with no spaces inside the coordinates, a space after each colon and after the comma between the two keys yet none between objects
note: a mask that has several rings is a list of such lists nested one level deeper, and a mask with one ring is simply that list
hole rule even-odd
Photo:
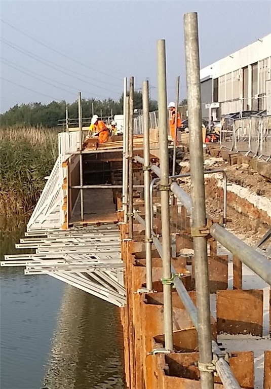
[{"label": "thick upper horizontal scaffold tube running to the right edge", "polygon": [[[136,156],[135,160],[142,163],[143,159]],[[151,165],[151,170],[158,177],[160,177],[160,168],[156,165]],[[171,184],[171,190],[182,205],[191,213],[192,202],[187,193],[176,183]],[[227,231],[221,225],[214,223],[210,228],[210,234],[222,246],[233,253],[241,260],[247,267],[249,267],[255,274],[257,274],[267,284],[271,285],[271,271],[270,261],[255,249],[248,246],[246,243],[237,238],[234,234]]]}]

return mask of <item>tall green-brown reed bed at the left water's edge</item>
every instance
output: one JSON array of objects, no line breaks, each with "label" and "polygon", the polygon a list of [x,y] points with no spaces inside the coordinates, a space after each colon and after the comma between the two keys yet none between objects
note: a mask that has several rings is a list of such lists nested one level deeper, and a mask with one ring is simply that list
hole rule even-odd
[{"label": "tall green-brown reed bed at the left water's edge", "polygon": [[0,129],[0,215],[27,215],[58,155],[58,131]]}]

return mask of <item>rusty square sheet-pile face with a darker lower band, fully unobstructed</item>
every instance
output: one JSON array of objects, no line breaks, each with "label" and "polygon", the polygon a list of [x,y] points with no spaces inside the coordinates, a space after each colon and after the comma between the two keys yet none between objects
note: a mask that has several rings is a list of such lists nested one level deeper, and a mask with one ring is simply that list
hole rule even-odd
[{"label": "rusty square sheet-pile face with a darker lower band, fully unobstructed", "polygon": [[262,336],[262,328],[262,290],[221,290],[217,292],[218,334]]}]

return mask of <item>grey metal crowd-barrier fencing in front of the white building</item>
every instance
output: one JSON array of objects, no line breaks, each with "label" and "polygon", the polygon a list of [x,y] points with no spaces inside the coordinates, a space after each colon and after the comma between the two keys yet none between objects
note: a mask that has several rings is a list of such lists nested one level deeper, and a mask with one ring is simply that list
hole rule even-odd
[{"label": "grey metal crowd-barrier fencing in front of the white building", "polygon": [[221,121],[220,144],[230,151],[271,158],[271,116],[249,116]]}]

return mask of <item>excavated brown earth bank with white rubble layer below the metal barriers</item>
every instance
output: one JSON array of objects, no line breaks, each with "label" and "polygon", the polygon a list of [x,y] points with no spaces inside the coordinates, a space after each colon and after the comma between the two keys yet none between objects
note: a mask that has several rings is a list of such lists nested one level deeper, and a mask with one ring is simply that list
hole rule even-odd
[{"label": "excavated brown earth bank with white rubble layer below the metal barriers", "polygon": [[[271,163],[266,164],[270,165],[271,171]],[[181,173],[190,172],[189,153],[184,155],[180,165]],[[227,228],[246,243],[254,245],[271,226],[271,181],[248,163],[231,164],[222,157],[211,157],[207,153],[204,166],[205,170],[223,169],[226,172]],[[221,174],[206,175],[206,183],[207,212],[217,219],[223,215]],[[189,193],[190,178],[182,179],[181,186]]]}]

